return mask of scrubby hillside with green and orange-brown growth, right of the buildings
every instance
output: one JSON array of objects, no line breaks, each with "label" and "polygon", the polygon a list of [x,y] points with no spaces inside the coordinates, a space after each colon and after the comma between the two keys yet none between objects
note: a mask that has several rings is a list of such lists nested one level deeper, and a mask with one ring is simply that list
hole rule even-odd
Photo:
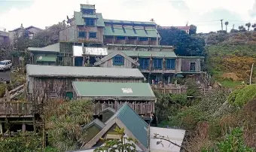
[{"label": "scrubby hillside with green and orange-brown growth, right of the buildings", "polygon": [[[226,87],[249,81],[256,63],[256,32],[209,33],[197,35],[206,41],[206,69]],[[252,82],[256,82],[256,68]]]}]

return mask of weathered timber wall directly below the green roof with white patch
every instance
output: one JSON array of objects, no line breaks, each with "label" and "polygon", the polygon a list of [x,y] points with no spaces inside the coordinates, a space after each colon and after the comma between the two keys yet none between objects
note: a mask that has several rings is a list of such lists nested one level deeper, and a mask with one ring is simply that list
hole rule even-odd
[{"label": "weathered timber wall directly below the green roof with white patch", "polygon": [[113,101],[113,100],[107,100],[107,101],[94,101],[95,108],[94,108],[94,114],[98,115],[102,110],[105,108],[111,107],[114,110],[118,110],[125,102],[130,105],[131,108],[133,108],[134,111],[136,111],[137,114],[150,114],[151,112],[154,112],[154,101]]}]

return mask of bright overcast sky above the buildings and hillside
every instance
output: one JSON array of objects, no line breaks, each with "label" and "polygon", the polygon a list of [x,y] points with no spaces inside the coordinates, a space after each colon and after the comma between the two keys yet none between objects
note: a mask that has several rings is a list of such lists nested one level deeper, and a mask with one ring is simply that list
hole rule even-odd
[{"label": "bright overcast sky above the buildings and hillside", "polygon": [[72,17],[80,4],[96,5],[105,19],[149,21],[160,26],[195,24],[198,32],[221,29],[219,20],[229,21],[228,29],[247,22],[256,23],[255,0],[0,0],[0,28],[53,25]]}]

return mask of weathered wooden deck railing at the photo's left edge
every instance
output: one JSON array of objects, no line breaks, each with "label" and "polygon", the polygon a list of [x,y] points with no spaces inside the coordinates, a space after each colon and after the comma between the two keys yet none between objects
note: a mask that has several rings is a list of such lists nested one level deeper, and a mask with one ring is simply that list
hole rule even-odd
[{"label": "weathered wooden deck railing at the photo's left edge", "polygon": [[0,102],[1,115],[31,115],[32,102]]}]

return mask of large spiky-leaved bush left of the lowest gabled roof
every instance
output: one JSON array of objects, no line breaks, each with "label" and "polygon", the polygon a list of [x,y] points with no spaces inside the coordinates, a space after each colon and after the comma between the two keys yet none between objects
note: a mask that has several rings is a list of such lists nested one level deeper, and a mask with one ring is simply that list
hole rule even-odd
[{"label": "large spiky-leaved bush left of the lowest gabled roof", "polygon": [[48,101],[42,119],[53,147],[59,151],[80,149],[87,142],[86,130],[81,126],[93,119],[92,109],[93,103],[86,100]]}]

